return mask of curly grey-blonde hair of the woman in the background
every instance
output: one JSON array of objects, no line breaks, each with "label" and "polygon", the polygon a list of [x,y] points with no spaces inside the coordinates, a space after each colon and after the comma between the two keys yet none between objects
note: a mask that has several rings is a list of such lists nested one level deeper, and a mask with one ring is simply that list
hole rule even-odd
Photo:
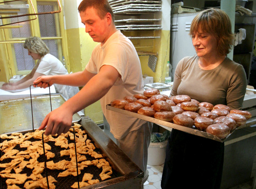
[{"label": "curly grey-blonde hair of the woman in the background", "polygon": [[39,54],[41,57],[49,53],[49,48],[39,37],[28,37],[23,45],[25,49]]}]

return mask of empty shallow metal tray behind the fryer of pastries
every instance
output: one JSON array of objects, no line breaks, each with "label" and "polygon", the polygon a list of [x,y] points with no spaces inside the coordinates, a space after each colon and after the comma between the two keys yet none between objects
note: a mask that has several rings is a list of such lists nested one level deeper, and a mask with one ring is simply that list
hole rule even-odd
[{"label": "empty shallow metal tray behind the fryer of pastries", "polygon": [[[65,99],[62,95],[57,94],[51,95],[51,101],[52,110],[54,110],[60,107]],[[36,129],[39,128],[45,116],[51,111],[49,94],[32,97],[32,109],[34,129]],[[81,116],[75,113],[72,123],[79,120],[81,120]],[[33,127],[30,97],[0,101],[0,124],[0,134],[31,130]]]}]

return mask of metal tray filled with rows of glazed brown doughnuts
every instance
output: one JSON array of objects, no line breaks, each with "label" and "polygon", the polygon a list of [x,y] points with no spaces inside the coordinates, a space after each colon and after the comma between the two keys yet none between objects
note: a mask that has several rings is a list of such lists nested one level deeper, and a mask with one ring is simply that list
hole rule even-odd
[{"label": "metal tray filled with rows of glazed brown doughnuts", "polygon": [[157,125],[224,142],[235,130],[250,126],[251,113],[229,106],[199,102],[187,95],[169,97],[150,88],[143,94],[113,99],[107,110],[146,120]]}]

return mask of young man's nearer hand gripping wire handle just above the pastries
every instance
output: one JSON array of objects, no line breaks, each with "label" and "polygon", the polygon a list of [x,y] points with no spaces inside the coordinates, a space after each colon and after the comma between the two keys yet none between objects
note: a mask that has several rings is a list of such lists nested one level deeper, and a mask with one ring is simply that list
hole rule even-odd
[{"label": "young man's nearer hand gripping wire handle just above the pastries", "polygon": [[72,113],[68,108],[60,106],[48,113],[42,121],[39,130],[45,129],[45,135],[67,133],[72,124]]}]

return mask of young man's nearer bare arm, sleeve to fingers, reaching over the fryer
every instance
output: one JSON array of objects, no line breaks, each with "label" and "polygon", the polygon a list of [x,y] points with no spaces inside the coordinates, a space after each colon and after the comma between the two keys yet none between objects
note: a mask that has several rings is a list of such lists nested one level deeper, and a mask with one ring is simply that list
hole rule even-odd
[{"label": "young man's nearer bare arm, sleeve to fingers, reaching over the fryer", "polygon": [[46,135],[67,133],[71,127],[72,115],[102,98],[119,77],[119,72],[113,66],[102,66],[99,73],[94,75],[75,96],[50,112],[39,129],[47,126]]}]

